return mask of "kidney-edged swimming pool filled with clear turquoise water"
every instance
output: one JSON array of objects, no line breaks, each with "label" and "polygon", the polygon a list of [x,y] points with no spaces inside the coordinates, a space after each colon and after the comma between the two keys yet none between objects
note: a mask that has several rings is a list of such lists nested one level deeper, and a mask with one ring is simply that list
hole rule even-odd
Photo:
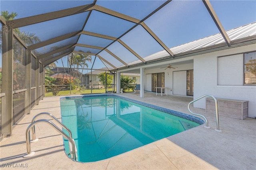
[{"label": "kidney-edged swimming pool filled with clear turquoise water", "polygon": [[[192,115],[114,94],[62,97],[60,105],[79,162],[111,158],[204,123]],[[64,148],[69,154],[65,139]]]}]

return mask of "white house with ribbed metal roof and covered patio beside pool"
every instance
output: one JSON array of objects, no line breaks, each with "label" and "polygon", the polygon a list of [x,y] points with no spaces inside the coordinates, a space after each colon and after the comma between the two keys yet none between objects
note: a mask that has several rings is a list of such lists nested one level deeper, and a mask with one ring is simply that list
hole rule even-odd
[{"label": "white house with ribbed metal roof and covered patio beside pool", "polygon": [[[133,68],[118,68],[122,72],[136,72],[142,76],[141,88],[155,92],[155,87],[166,87],[167,93],[180,96],[205,94],[216,98],[246,100],[248,116],[256,117],[256,23],[250,23],[227,31],[232,47],[225,45],[219,34],[198,39],[170,50],[175,59],[163,59],[162,62],[137,64]],[[196,46],[195,46],[196,44]],[[144,59],[168,57],[166,51],[160,51]],[[128,63],[129,65],[131,63]],[[168,64],[177,68],[166,68]],[[117,76],[117,79],[118,79]],[[117,84],[117,92],[118,92]],[[144,90],[140,96],[144,97]],[[165,92],[166,93],[166,92]],[[201,99],[194,107],[206,108],[206,100]]]}]

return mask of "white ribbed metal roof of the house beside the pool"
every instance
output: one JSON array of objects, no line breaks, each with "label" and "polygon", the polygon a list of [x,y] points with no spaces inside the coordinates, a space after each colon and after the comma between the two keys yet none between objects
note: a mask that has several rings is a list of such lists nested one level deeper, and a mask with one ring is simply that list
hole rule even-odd
[{"label": "white ribbed metal roof of the house beside the pool", "polygon": [[[231,46],[244,46],[256,43],[256,22],[230,29],[226,32],[228,37],[230,37]],[[218,33],[215,35],[204,37],[202,39],[198,39],[196,41],[170,48],[170,50],[173,51],[174,56],[186,55],[186,57],[188,57],[188,55],[191,56],[195,55],[195,53],[198,54],[199,51],[201,52],[200,54],[202,54],[208,53],[209,50],[223,50],[223,47],[226,47],[226,49],[228,49],[224,39],[222,38],[221,33]],[[170,55],[166,53],[166,51],[159,51],[145,57],[144,60],[146,62],[150,62],[166,58],[170,58]],[[140,62],[137,60],[128,64],[136,65],[139,63]],[[119,68],[124,68],[124,66],[120,66]]]}]

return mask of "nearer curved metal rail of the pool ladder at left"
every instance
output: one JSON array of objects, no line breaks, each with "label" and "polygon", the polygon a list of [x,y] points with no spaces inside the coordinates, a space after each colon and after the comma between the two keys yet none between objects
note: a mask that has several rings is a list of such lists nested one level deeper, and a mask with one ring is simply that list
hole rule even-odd
[{"label": "nearer curved metal rail of the pool ladder at left", "polygon": [[71,139],[70,137],[68,137],[68,135],[66,135],[66,133],[64,133],[60,128],[58,128],[56,125],[54,125],[54,123],[52,123],[51,121],[49,120],[46,120],[46,119],[40,119],[40,120],[37,120],[37,121],[34,121],[33,123],[31,123],[27,130],[26,130],[26,146],[27,146],[27,153],[23,156],[23,158],[27,158],[27,157],[30,157],[32,155],[35,154],[35,152],[31,152],[31,145],[30,145],[30,129],[32,129],[32,127],[34,125],[36,125],[37,123],[40,123],[40,122],[45,122],[45,123],[48,123],[49,125],[51,125],[52,127],[54,127],[54,129],[56,131],[58,131],[63,137],[65,137],[66,139],[68,139],[68,141],[71,143],[72,145],[72,148],[70,150],[70,155],[71,155],[71,158],[73,158],[74,160],[76,160],[76,144],[74,142],[73,139]]}]

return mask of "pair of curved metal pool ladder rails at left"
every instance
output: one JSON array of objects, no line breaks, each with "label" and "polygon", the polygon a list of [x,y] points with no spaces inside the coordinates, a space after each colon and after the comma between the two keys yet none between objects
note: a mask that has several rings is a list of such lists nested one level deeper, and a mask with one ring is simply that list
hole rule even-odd
[{"label": "pair of curved metal pool ladder rails at left", "polygon": [[[55,119],[64,129],[66,129],[69,133],[69,136],[66,135],[66,133],[64,133],[60,128],[58,128],[54,123],[52,123],[50,120],[47,119],[40,119],[40,120],[36,120],[37,117],[41,116],[41,115],[48,115],[50,117],[52,117],[53,119]],[[65,137],[68,140],[68,144],[69,144],[69,150],[70,150],[70,156],[72,159],[77,160],[77,149],[76,149],[76,144],[74,142],[74,139],[72,139],[72,133],[70,131],[70,129],[68,129],[65,125],[63,125],[63,123],[61,123],[56,117],[54,117],[51,113],[47,113],[47,112],[43,112],[43,113],[39,113],[36,116],[33,117],[31,124],[28,126],[27,130],[26,130],[26,147],[27,147],[27,153],[23,156],[23,158],[27,158],[30,156],[33,156],[35,154],[35,152],[31,152],[31,145],[30,143],[36,142],[38,141],[38,139],[36,139],[36,131],[35,131],[35,125],[37,123],[40,122],[45,122],[48,123],[49,125],[51,125],[56,131],[58,131],[63,137]],[[30,129],[32,129],[32,141],[30,141]]]}]

